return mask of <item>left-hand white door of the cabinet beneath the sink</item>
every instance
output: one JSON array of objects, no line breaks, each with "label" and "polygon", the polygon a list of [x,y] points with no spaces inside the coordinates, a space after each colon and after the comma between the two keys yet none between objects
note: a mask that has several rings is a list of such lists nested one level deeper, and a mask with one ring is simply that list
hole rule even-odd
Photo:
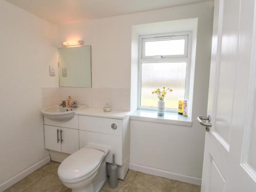
[{"label": "left-hand white door of the cabinet beneath the sink", "polygon": [[60,140],[60,128],[50,125],[45,125],[45,148],[60,152],[61,143]]}]

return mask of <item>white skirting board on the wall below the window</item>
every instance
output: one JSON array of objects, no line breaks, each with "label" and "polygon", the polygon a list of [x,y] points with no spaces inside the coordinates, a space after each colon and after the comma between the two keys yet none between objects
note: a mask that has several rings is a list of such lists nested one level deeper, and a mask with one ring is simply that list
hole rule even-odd
[{"label": "white skirting board on the wall below the window", "polygon": [[190,183],[194,185],[201,185],[201,179],[196,177],[190,177],[190,176],[185,176],[185,175],[176,174],[172,172],[166,172],[166,170],[161,170],[157,168],[152,168],[152,167],[147,167],[147,166],[132,164],[132,163],[129,164],[129,168],[145,174],[151,174],[151,175],[173,179],[177,181],[182,181],[182,182]]}]

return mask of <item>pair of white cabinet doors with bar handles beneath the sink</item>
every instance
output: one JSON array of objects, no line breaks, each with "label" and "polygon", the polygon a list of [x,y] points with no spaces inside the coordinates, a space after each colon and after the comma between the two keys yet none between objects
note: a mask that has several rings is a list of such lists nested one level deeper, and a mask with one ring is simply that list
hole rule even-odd
[{"label": "pair of white cabinet doors with bar handles beneath the sink", "polygon": [[72,154],[78,151],[78,130],[45,125],[45,148],[67,154]]}]

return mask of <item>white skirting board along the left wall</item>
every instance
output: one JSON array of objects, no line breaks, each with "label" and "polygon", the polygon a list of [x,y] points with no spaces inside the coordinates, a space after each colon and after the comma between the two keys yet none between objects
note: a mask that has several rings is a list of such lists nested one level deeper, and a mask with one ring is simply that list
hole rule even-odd
[{"label": "white skirting board along the left wall", "polygon": [[20,172],[19,174],[15,175],[13,178],[9,179],[8,181],[2,183],[0,185],[0,191],[4,191],[7,188],[9,188],[10,186],[12,186],[13,184],[17,183],[18,181],[22,180],[23,178],[27,177],[28,175],[30,175],[31,173],[33,173],[35,170],[37,170],[38,168],[40,168],[41,166],[44,166],[45,164],[50,162],[50,156],[42,159],[41,161],[33,164],[32,166],[30,166],[29,168],[23,170],[23,172]]}]

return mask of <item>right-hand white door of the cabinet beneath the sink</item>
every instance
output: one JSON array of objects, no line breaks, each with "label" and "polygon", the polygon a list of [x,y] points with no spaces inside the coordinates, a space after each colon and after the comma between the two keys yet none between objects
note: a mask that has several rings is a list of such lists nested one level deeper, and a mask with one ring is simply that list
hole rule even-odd
[{"label": "right-hand white door of the cabinet beneath the sink", "polygon": [[79,133],[78,130],[63,128],[61,130],[61,152],[72,154],[79,150]]}]

